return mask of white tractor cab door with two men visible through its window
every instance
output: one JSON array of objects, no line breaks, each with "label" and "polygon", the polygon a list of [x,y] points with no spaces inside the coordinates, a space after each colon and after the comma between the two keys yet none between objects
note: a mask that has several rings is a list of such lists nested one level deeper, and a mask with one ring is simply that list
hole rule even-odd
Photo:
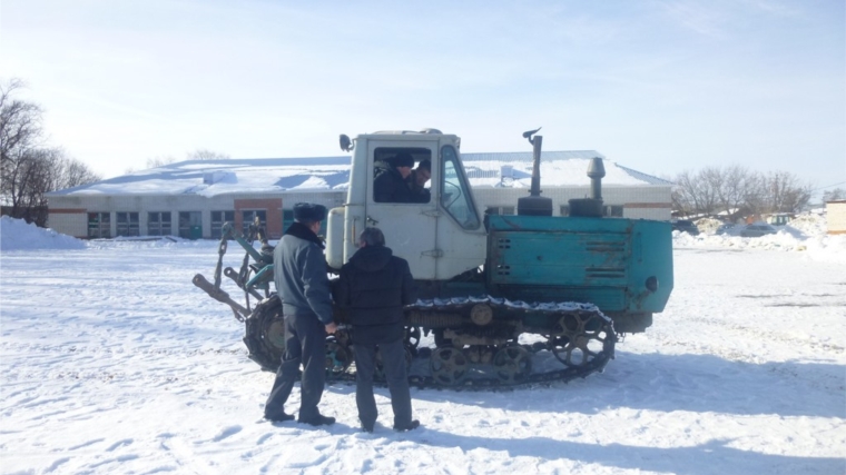
[{"label": "white tractor cab door with two men visible through its window", "polygon": [[420,161],[429,159],[432,162],[432,178],[427,186],[437,182],[439,167],[437,142],[434,141],[383,141],[368,142],[367,156],[367,198],[365,208],[366,226],[375,226],[385,235],[385,246],[393,250],[394,256],[409,261],[415,279],[434,279],[436,260],[440,258],[435,249],[437,229],[437,204],[435,190],[430,188],[429,202],[376,202],[373,194],[373,179],[376,174],[376,161],[407,152],[414,157],[415,167]]}]

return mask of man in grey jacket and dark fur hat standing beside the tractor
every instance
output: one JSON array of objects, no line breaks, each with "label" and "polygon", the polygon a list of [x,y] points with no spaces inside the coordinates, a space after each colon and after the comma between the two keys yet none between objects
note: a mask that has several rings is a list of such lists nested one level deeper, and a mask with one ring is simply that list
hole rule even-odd
[{"label": "man in grey jacket and dark fur hat standing beside the tractor", "polygon": [[325,218],[323,205],[294,205],[294,224],[273,253],[274,280],[285,316],[285,354],[265,404],[265,418],[269,420],[294,418],[285,414],[284,406],[302,365],[298,422],[313,426],[335,423],[334,417],[317,409],[326,378],[326,334],[336,329],[323,243],[317,237]]}]

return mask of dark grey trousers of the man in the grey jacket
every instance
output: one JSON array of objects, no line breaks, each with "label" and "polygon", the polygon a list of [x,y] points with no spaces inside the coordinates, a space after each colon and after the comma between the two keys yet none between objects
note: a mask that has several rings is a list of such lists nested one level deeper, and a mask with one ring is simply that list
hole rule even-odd
[{"label": "dark grey trousers of the man in the grey jacket", "polygon": [[314,315],[285,315],[285,354],[265,403],[265,417],[275,418],[284,413],[301,364],[299,418],[309,419],[319,415],[317,404],[326,380],[326,329]]}]

